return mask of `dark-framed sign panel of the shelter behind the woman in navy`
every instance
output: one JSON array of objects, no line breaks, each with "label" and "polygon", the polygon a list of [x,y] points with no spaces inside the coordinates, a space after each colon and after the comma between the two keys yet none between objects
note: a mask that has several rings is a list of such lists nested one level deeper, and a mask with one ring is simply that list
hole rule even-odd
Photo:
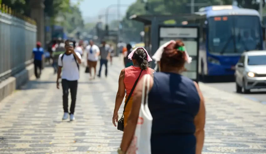
[{"label": "dark-framed sign panel of the shelter behind the woman in navy", "polygon": [[192,62],[190,64],[185,64],[186,72],[183,72],[182,75],[194,80],[198,81],[198,27],[174,27],[174,26],[159,26],[159,45],[163,45],[164,43],[170,40],[182,40],[186,46],[187,53],[192,57]]}]

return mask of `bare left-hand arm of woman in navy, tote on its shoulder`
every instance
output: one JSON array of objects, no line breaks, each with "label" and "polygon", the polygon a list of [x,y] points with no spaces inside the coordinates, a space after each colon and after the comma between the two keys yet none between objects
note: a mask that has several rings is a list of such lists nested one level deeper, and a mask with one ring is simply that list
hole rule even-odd
[{"label": "bare left-hand arm of woman in navy, tote on its shoulder", "polygon": [[[142,96],[142,86],[144,82],[144,77],[141,78],[141,80],[138,82],[135,90],[134,90],[134,97],[133,97],[133,102],[132,102],[132,108],[127,120],[127,125],[125,126],[124,129],[124,134],[122,138],[122,142],[120,145],[120,148],[123,152],[126,152],[130,142],[133,138],[133,135],[136,130],[136,125],[138,122],[139,118],[139,112],[140,112],[140,107],[141,107],[141,96]],[[147,85],[147,84],[146,84]],[[150,89],[153,86],[153,79],[150,77]],[[147,90],[147,87],[145,91]],[[146,95],[145,95],[146,97]]]}]

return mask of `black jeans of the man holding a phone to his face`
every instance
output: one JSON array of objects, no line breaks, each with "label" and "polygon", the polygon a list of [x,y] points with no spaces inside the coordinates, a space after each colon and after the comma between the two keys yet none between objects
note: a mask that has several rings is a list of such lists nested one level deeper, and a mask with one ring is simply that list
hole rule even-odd
[{"label": "black jeans of the man holding a phone to his face", "polygon": [[62,79],[62,88],[63,88],[63,109],[64,112],[68,113],[68,90],[70,89],[71,94],[71,105],[70,105],[70,114],[74,114],[76,98],[77,98],[77,90],[78,90],[78,81],[68,81],[66,79]]}]

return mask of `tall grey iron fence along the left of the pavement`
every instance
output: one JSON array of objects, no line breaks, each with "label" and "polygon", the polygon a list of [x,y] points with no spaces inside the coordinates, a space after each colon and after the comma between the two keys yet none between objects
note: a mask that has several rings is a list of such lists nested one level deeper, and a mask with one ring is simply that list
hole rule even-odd
[{"label": "tall grey iron fence along the left of the pavement", "polygon": [[37,27],[30,18],[18,16],[10,8],[0,12],[0,82],[32,63]]}]

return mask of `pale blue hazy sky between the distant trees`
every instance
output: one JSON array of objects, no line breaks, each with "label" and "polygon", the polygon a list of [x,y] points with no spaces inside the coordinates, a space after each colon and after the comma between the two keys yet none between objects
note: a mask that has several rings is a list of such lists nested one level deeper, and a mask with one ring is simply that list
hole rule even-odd
[{"label": "pale blue hazy sky between the distant trees", "polygon": [[[71,0],[75,3],[76,0]],[[120,19],[125,16],[126,10],[130,4],[136,2],[136,0],[83,0],[80,3],[80,11],[85,23],[97,21],[99,15],[102,16],[103,22],[105,22],[106,8],[112,5],[109,9],[108,22],[118,19],[116,4],[120,1]]]}]

